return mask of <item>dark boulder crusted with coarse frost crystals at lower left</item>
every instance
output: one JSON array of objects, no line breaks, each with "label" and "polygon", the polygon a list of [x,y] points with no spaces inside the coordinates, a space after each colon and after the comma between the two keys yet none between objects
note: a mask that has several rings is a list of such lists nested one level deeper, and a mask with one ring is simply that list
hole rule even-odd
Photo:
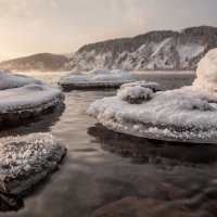
[{"label": "dark boulder crusted with coarse frost crystals at lower left", "polygon": [[65,154],[66,148],[50,133],[1,138],[0,191],[22,195],[53,171]]}]

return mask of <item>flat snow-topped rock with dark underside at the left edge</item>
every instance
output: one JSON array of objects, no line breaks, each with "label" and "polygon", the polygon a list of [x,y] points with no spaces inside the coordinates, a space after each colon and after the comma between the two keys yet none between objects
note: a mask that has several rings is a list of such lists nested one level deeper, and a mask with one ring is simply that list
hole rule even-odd
[{"label": "flat snow-topped rock with dark underside at the left edge", "polygon": [[22,75],[0,72],[0,124],[10,125],[61,104],[64,94],[56,86]]}]

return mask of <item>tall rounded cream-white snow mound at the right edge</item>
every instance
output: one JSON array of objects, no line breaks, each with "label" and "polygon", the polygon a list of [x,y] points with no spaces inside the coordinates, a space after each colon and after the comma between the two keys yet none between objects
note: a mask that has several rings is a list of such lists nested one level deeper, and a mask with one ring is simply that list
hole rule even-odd
[{"label": "tall rounded cream-white snow mound at the right edge", "polygon": [[208,51],[199,62],[193,85],[202,90],[217,91],[217,48]]}]

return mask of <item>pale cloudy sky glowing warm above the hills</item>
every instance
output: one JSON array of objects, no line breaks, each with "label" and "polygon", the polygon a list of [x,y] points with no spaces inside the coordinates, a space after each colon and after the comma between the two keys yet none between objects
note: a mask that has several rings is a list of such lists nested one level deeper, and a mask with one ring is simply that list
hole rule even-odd
[{"label": "pale cloudy sky glowing warm above the hills", "polygon": [[149,30],[217,26],[217,0],[0,0],[0,61]]}]

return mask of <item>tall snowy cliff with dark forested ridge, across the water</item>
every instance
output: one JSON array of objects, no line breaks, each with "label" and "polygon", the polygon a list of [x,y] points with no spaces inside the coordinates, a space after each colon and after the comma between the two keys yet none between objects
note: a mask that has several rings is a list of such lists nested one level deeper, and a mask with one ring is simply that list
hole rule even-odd
[{"label": "tall snowy cliff with dark forested ridge, across the water", "polygon": [[201,26],[177,31],[151,31],[87,44],[67,68],[195,69],[204,54],[217,47],[217,28]]}]

